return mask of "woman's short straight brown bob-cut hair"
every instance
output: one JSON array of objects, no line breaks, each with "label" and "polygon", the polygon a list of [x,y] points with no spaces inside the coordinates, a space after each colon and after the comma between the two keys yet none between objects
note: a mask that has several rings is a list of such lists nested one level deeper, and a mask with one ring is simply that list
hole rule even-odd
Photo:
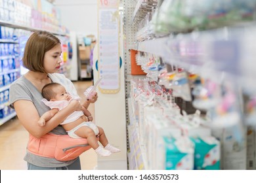
[{"label": "woman's short straight brown bob-cut hair", "polygon": [[23,66],[30,71],[46,73],[43,67],[45,52],[58,44],[61,44],[60,40],[53,34],[47,31],[35,31],[26,43],[22,58]]}]

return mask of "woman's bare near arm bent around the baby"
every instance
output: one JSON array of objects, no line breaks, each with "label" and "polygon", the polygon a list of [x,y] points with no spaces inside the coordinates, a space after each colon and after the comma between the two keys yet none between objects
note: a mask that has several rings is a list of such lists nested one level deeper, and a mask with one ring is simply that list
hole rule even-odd
[{"label": "woman's bare near arm bent around the baby", "polygon": [[40,116],[32,101],[18,100],[14,102],[13,105],[21,124],[31,135],[37,138],[40,138],[41,136],[54,129],[54,127],[63,122],[68,117],[68,115],[72,114],[72,112],[75,110],[81,110],[79,101],[74,100],[70,102],[68,107],[57,112],[53,118],[51,118],[51,120],[49,120],[43,127],[41,127],[37,124]]}]

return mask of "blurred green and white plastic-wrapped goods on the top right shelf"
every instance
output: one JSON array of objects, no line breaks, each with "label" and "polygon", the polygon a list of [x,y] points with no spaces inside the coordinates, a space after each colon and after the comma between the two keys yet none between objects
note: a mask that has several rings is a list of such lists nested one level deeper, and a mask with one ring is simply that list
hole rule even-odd
[{"label": "blurred green and white plastic-wrapped goods on the top right shelf", "polygon": [[156,33],[214,29],[255,20],[255,0],[165,0],[152,18]]}]

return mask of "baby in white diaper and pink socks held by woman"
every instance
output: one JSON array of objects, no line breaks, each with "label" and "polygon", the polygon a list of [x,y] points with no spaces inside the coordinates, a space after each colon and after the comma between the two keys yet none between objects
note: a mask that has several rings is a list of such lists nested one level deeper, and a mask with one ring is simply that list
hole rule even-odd
[{"label": "baby in white diaper and pink socks held by woman", "polygon": [[[45,122],[53,118],[58,110],[65,108],[71,100],[79,101],[79,97],[72,97],[66,92],[64,86],[58,83],[50,83],[43,87],[42,99],[43,103],[52,108],[45,112],[38,121],[38,124],[43,126]],[[57,110],[57,109],[58,110]],[[53,112],[55,110],[55,112]],[[91,117],[91,113],[87,108],[82,107],[82,111],[75,111],[61,125],[64,127],[68,135],[72,138],[86,138],[88,144],[95,150],[98,156],[110,156],[115,152],[120,152],[118,148],[110,145],[102,127],[96,126],[93,122],[87,122],[87,118]],[[104,146],[98,144],[96,136],[99,135],[99,141]]]}]

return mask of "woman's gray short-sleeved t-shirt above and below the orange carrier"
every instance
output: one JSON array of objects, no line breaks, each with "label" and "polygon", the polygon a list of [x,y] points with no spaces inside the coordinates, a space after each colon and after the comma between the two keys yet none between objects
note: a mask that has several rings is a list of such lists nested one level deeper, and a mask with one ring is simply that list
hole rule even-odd
[{"label": "woman's gray short-sleeved t-shirt above and below the orange carrier", "polygon": [[[74,94],[77,95],[76,91],[74,90],[74,85],[64,75],[51,74],[49,75],[49,77],[53,82],[58,82],[63,86],[65,86],[66,88],[72,88]],[[11,108],[14,108],[13,103],[15,101],[28,100],[33,102],[33,104],[35,105],[35,108],[39,113],[39,116],[42,116],[45,112],[50,110],[50,108],[47,107],[41,101],[41,99],[43,99],[41,92],[39,92],[37,88],[33,86],[32,82],[30,82],[24,76],[21,76],[20,78],[18,78],[18,80],[12,82],[9,90],[10,90],[9,103]],[[56,128],[54,128],[51,131],[51,133],[54,133],[57,135],[64,135],[66,134],[66,131],[61,125],[58,125]],[[54,158],[45,158],[45,157],[37,156],[28,151],[26,152],[26,156],[24,157],[24,160],[38,167],[64,167],[72,164],[75,161],[75,159],[71,161],[58,161]]]}]

